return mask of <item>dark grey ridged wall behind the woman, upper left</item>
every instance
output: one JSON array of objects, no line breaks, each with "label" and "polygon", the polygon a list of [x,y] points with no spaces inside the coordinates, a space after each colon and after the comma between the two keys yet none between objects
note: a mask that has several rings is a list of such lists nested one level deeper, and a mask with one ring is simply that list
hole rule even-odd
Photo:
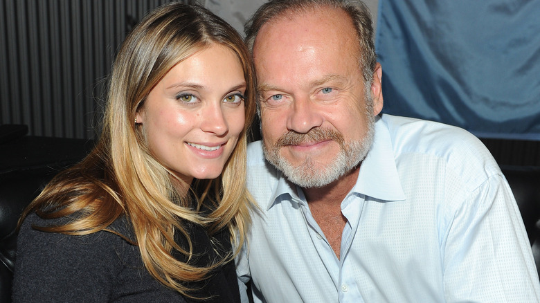
[{"label": "dark grey ridged wall behind the woman, upper left", "polygon": [[94,138],[116,49],[170,0],[1,0],[0,125]]}]

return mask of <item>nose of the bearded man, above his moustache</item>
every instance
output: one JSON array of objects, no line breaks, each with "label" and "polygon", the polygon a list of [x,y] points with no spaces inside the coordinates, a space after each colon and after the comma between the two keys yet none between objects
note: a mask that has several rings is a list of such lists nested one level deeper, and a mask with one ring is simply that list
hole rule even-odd
[{"label": "nose of the bearded man, above his moustache", "polygon": [[300,134],[307,133],[314,127],[321,127],[323,116],[321,109],[317,107],[309,97],[295,98],[289,108],[287,117],[287,129]]}]

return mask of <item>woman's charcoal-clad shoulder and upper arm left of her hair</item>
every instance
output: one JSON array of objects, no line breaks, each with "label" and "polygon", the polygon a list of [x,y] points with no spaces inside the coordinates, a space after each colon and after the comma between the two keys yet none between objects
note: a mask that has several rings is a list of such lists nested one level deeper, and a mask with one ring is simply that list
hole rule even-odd
[{"label": "woman's charcoal-clad shoulder and upper arm left of her hair", "polygon": [[131,228],[125,217],[109,226],[114,232],[101,230],[89,235],[33,228],[65,220],[44,220],[35,213],[25,219],[17,244],[16,301],[37,302],[37,298],[47,297],[57,302],[185,302],[151,277],[138,246],[116,233]]}]

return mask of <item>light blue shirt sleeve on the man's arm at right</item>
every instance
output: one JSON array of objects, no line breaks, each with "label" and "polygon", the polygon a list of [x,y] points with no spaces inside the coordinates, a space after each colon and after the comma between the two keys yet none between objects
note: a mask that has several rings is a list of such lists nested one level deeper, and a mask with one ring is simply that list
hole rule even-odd
[{"label": "light blue shirt sleeve on the man's arm at right", "polygon": [[540,302],[527,233],[503,176],[489,177],[462,200],[443,250],[447,302]]}]

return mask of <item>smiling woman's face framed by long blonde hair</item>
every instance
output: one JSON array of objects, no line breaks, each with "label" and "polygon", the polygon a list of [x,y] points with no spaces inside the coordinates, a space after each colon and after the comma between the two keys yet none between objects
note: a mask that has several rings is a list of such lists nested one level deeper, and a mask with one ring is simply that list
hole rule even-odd
[{"label": "smiling woman's face framed by long blonde hair", "polygon": [[216,178],[244,129],[240,60],[214,44],[183,60],[136,113],[152,154],[186,183]]}]

